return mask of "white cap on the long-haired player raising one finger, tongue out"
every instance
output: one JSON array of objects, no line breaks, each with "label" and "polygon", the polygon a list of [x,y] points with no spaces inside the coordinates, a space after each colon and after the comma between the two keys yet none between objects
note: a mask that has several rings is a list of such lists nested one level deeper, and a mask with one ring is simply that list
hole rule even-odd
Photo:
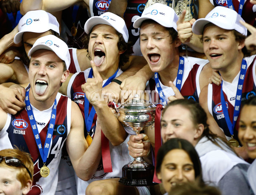
[{"label": "white cap on the long-haired player raising one finger, tongue out", "polygon": [[128,34],[128,29],[125,25],[125,20],[123,20],[121,17],[117,16],[116,14],[113,14],[111,12],[106,12],[100,16],[90,17],[84,24],[84,31],[87,34],[90,34],[90,31],[92,30],[93,26],[97,24],[107,24],[112,26],[113,28],[116,29],[116,31],[122,34],[125,42],[128,42],[129,34]]}]

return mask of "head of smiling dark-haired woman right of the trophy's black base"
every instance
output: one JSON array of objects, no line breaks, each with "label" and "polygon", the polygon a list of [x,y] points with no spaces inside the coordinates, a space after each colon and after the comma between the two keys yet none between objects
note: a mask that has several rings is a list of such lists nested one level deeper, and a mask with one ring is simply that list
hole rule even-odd
[{"label": "head of smiling dark-haired woman right of the trophy's black base", "polygon": [[193,145],[184,139],[172,138],[160,147],[156,170],[166,192],[195,178],[203,184],[198,154]]}]

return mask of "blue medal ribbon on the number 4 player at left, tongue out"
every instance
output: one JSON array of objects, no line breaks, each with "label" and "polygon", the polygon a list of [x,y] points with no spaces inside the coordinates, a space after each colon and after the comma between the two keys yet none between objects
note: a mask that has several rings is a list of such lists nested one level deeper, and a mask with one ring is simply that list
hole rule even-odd
[{"label": "blue medal ribbon on the number 4 player at left, tongue out", "polygon": [[45,138],[44,149],[43,149],[41,139],[40,139],[40,135],[38,133],[37,124],[35,122],[35,117],[34,117],[34,114],[33,114],[33,111],[32,111],[32,107],[31,107],[30,102],[29,102],[29,89],[26,91],[26,98],[25,98],[26,109],[27,109],[27,113],[28,113],[28,116],[29,116],[29,122],[30,122],[30,125],[32,127],[32,131],[33,131],[33,134],[35,136],[35,141],[36,141],[36,144],[38,146],[39,153],[41,155],[41,158],[42,158],[43,162],[45,163],[46,160],[47,160],[48,153],[49,153],[49,147],[50,147],[50,144],[51,144],[51,141],[52,141],[52,133],[53,133],[53,129],[54,129],[54,125],[55,125],[55,119],[56,119],[57,101],[55,99],[54,105],[52,107],[51,119],[50,119],[50,122],[49,122],[48,130],[47,130],[47,136]]}]

